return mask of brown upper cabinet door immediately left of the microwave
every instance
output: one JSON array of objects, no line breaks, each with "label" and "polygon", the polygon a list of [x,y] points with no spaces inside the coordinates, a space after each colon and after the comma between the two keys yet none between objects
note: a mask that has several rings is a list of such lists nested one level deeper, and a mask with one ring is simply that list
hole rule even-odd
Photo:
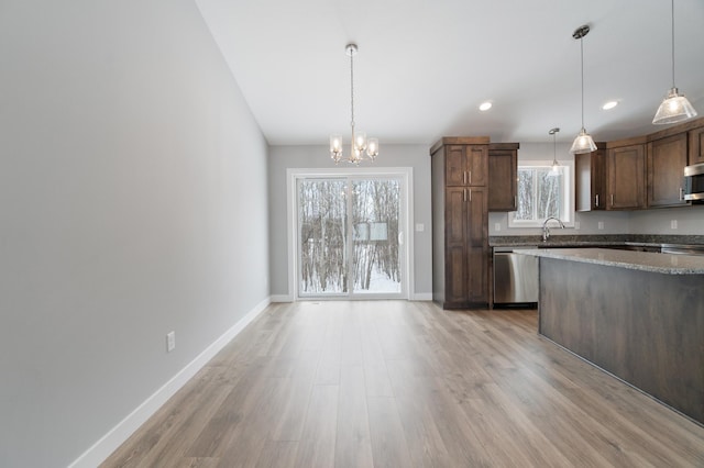
[{"label": "brown upper cabinet door immediately left of the microwave", "polygon": [[648,144],[648,207],[688,204],[684,188],[686,133]]}]

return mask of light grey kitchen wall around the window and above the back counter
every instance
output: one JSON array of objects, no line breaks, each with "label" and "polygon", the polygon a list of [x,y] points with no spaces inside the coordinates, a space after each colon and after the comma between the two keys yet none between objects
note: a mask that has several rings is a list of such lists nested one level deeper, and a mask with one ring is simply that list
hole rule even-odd
[{"label": "light grey kitchen wall around the window and above the back counter", "polygon": [[[574,160],[569,153],[570,143],[558,143],[559,160]],[[518,163],[521,160],[551,160],[552,143],[521,143],[518,149]],[[671,221],[678,221],[678,229],[671,229]],[[579,229],[552,229],[552,235],[584,235],[584,234],[670,234],[670,235],[704,235],[704,205],[684,208],[664,208],[641,211],[594,211],[578,212],[575,221]],[[600,222],[604,229],[600,230]],[[498,225],[498,230],[496,230]],[[507,213],[490,213],[490,235],[540,235],[537,227],[508,227]]]}]

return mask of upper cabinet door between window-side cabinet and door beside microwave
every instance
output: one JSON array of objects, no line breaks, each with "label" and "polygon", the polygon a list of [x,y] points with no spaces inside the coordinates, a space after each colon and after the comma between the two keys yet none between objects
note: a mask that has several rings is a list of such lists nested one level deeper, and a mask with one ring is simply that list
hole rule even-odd
[{"label": "upper cabinet door between window-side cabinet and door beside microwave", "polygon": [[608,149],[608,210],[638,210],[646,207],[645,156],[642,144]]}]

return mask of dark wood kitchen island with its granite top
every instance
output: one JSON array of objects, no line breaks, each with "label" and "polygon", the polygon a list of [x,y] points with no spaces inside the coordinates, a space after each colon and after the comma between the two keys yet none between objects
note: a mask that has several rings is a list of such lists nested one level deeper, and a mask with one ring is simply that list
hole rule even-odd
[{"label": "dark wood kitchen island with its granite top", "polygon": [[540,334],[704,424],[704,257],[521,253],[540,257]]}]

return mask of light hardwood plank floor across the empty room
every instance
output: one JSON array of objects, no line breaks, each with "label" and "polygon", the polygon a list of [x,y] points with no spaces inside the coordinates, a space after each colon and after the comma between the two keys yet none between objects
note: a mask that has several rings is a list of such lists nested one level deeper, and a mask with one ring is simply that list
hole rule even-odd
[{"label": "light hardwood plank floor across the empty room", "polygon": [[105,467],[704,467],[704,427],[526,310],[273,304]]}]

